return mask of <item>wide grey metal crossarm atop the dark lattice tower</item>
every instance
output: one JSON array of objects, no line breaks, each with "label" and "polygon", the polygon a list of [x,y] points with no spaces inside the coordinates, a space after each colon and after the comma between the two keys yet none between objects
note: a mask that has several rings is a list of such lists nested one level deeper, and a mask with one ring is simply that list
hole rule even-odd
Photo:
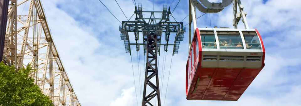
[{"label": "wide grey metal crossarm atop the dark lattice tower", "polygon": [[[175,42],[172,44],[174,46],[173,53],[178,52],[178,47],[180,41],[183,40],[183,33],[186,31],[186,28],[183,28],[183,22],[159,22],[157,24],[148,24],[146,22],[141,21],[122,21],[122,26],[119,26],[119,31],[121,32],[120,37],[121,40],[124,40],[126,53],[130,53],[130,40],[128,32],[139,33],[142,32],[144,37],[146,37],[149,33],[156,33],[158,38],[158,44],[161,44],[161,35],[165,33],[167,45],[168,44],[168,34],[176,33]],[[135,39],[136,41],[139,39]],[[144,39],[144,43],[145,39]],[[137,46],[137,44],[135,44]],[[167,51],[167,45],[165,45]],[[145,47],[145,45],[144,45]],[[144,48],[145,49],[145,48]],[[138,50],[138,49],[137,49]],[[146,50],[144,50],[146,53]],[[160,53],[160,47],[158,47],[158,53]]]}]

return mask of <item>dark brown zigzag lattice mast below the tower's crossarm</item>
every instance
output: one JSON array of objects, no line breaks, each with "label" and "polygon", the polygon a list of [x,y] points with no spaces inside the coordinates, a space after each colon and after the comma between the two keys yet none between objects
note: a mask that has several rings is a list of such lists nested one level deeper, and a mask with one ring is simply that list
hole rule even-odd
[{"label": "dark brown zigzag lattice mast below the tower's crossarm", "polygon": [[[150,100],[157,96],[158,106],[161,106],[160,91],[159,91],[159,79],[158,79],[158,67],[157,67],[157,36],[154,33],[147,35],[145,39],[146,44],[146,68],[145,79],[143,89],[143,101],[142,106],[153,106]],[[153,84],[150,79],[156,78],[156,83]],[[146,87],[153,91],[146,95]],[[151,91],[151,90],[149,90]]]}]

